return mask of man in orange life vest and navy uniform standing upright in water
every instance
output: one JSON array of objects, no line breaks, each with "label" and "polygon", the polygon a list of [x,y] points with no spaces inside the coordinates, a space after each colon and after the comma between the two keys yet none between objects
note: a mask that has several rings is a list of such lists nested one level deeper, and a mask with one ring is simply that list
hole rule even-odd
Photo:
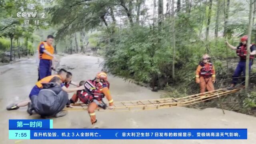
[{"label": "man in orange life vest and navy uniform standing upright in water", "polygon": [[54,41],[54,37],[52,35],[47,36],[47,40],[44,42],[40,42],[38,45],[38,56],[40,59],[39,62],[39,78],[45,78],[46,76],[52,75],[52,67],[55,69],[55,65],[53,64],[53,60],[57,60],[54,56],[54,48],[52,43]]}]

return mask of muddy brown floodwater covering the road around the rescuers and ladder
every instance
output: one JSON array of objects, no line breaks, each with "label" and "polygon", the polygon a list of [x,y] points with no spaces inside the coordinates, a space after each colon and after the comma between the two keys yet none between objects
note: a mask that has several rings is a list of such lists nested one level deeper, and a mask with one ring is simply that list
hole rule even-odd
[{"label": "muddy brown floodwater covering the road around the rescuers and ladder", "polygon": [[[102,59],[80,54],[64,56],[60,66],[70,68],[73,81],[88,80],[100,71]],[[73,69],[74,68],[74,69]],[[216,108],[196,110],[185,107],[147,110],[139,112],[96,112],[100,128],[248,128],[248,140],[8,140],[9,119],[40,119],[29,116],[26,107],[7,111],[12,102],[27,99],[37,80],[34,59],[26,59],[12,65],[0,66],[0,143],[1,144],[255,144],[256,118],[245,114]],[[148,88],[128,83],[121,78],[108,76],[114,101],[160,98],[164,92],[152,92]],[[71,97],[72,94],[69,94]],[[54,128],[88,128],[87,111],[69,111],[60,118],[52,118]]]}]

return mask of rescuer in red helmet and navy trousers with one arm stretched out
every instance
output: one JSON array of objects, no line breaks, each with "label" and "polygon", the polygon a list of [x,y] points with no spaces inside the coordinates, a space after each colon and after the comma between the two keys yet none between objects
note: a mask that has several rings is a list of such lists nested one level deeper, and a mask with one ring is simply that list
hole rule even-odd
[{"label": "rescuer in red helmet and navy trousers with one arm stretched out", "polygon": [[[240,57],[240,61],[238,62],[238,65],[236,66],[236,70],[234,71],[234,74],[232,76],[232,84],[228,87],[228,90],[232,90],[238,81],[238,77],[243,72],[243,76],[245,77],[245,71],[246,71],[246,54],[247,54],[247,39],[248,36],[242,36],[240,39],[240,44],[235,47],[226,42],[226,45],[230,47],[233,50],[236,50],[236,55]],[[256,54],[256,47],[255,44],[250,45],[250,62],[249,62],[249,70],[251,69],[252,62],[254,59],[254,55]],[[245,78],[243,78],[245,80]],[[244,85],[244,83],[243,83]]]}]

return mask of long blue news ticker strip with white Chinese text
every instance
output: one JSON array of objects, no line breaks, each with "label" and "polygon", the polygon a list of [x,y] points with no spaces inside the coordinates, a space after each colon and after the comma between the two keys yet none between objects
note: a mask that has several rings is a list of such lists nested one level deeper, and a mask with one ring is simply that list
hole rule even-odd
[{"label": "long blue news ticker strip with white Chinese text", "polygon": [[30,139],[247,139],[247,129],[51,129]]}]

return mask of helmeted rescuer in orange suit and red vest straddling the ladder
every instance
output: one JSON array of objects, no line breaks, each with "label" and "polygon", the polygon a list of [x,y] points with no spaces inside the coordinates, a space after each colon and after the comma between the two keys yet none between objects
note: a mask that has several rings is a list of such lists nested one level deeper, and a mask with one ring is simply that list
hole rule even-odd
[{"label": "helmeted rescuer in orange suit and red vest straddling the ladder", "polygon": [[84,84],[85,91],[79,94],[74,94],[72,98],[70,99],[71,103],[74,103],[80,99],[81,102],[84,102],[88,105],[88,113],[90,115],[91,123],[96,124],[97,119],[94,110],[98,106],[101,106],[102,108],[106,109],[106,105],[102,101],[102,98],[106,96],[108,102],[109,102],[109,109],[113,109],[114,102],[112,99],[112,96],[109,92],[109,83],[107,81],[107,74],[105,72],[99,72],[96,75],[96,78],[94,80],[87,80],[81,81],[80,85]]}]

